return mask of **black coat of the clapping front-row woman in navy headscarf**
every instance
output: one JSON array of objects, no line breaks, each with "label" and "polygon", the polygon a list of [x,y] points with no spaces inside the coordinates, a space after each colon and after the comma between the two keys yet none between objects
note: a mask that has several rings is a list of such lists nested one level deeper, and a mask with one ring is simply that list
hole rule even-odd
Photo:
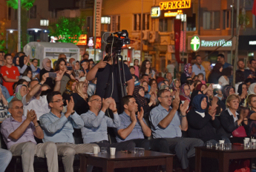
[{"label": "black coat of the clapping front-row woman in navy headscarf", "polygon": [[205,112],[205,117],[196,113],[193,108],[187,114],[188,119],[188,136],[190,138],[199,138],[204,142],[208,140],[221,140],[221,136],[216,133],[220,127],[218,118],[212,120],[211,115]]}]

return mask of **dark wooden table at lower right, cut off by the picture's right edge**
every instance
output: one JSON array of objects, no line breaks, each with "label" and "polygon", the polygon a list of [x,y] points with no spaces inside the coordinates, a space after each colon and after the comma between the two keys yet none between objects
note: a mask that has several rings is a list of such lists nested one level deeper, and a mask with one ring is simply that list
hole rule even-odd
[{"label": "dark wooden table at lower right, cut off by the picture's right edge", "polygon": [[255,148],[244,148],[243,145],[232,145],[232,150],[216,150],[215,147],[195,147],[196,149],[196,172],[202,171],[202,157],[219,160],[219,172],[227,172],[230,159],[248,159],[256,157]]}]

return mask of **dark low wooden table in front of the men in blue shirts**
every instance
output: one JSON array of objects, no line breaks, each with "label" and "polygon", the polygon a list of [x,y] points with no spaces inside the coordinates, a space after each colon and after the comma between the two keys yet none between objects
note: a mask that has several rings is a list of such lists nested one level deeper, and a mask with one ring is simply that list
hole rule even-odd
[{"label": "dark low wooden table in front of the men in blue shirts", "polygon": [[143,166],[166,165],[166,172],[172,172],[173,154],[164,154],[145,150],[144,155],[127,154],[116,152],[115,155],[109,153],[99,153],[97,155],[79,154],[81,172],[87,171],[87,165],[102,168],[103,172],[113,172],[115,168],[132,168]]}]

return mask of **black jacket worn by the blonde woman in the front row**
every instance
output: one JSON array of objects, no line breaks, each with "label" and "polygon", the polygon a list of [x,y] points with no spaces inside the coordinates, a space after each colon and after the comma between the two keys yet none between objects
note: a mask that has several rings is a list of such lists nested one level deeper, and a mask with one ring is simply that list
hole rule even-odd
[{"label": "black jacket worn by the blonde woman in the front row", "polygon": [[[239,115],[237,115],[237,118],[239,118]],[[225,136],[227,138],[230,138],[230,136],[232,136],[232,131],[236,130],[239,127],[237,125],[237,121],[234,122],[233,115],[230,115],[228,113],[228,110],[221,112],[220,123],[221,127],[218,130],[218,133],[220,133],[221,136]]]}]

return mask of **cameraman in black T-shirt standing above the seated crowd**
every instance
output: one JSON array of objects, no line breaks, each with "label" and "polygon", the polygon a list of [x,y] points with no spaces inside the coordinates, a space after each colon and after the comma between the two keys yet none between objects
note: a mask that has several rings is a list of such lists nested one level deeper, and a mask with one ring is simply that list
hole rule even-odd
[{"label": "cameraman in black T-shirt standing above the seated crowd", "polygon": [[[115,58],[115,51],[113,50],[111,53],[110,44],[106,46],[106,53],[108,55],[106,55],[104,60],[97,63],[90,71],[88,71],[86,80],[91,81],[94,78],[97,78],[95,94],[102,98],[113,97],[116,102],[118,113],[122,113],[120,106],[122,94],[120,84],[118,84],[120,83],[118,76],[118,64]],[[121,71],[121,73],[123,74],[123,71]],[[127,86],[127,95],[132,95],[134,90],[134,81],[132,80],[130,69],[126,64],[124,64],[124,78]]]}]

